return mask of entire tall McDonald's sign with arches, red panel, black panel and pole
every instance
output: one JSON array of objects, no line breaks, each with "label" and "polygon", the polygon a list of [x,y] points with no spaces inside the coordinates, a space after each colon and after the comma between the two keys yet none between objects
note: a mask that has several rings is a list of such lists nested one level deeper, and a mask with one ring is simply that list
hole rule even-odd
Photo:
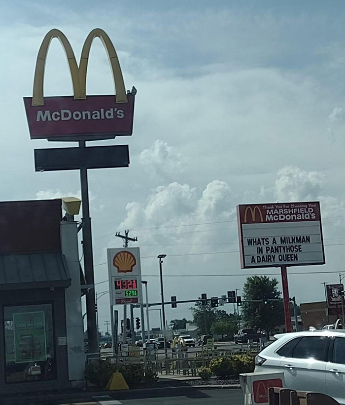
[{"label": "entire tall McDonald's sign with arches, red panel, black panel and pole", "polygon": [[[102,40],[114,80],[113,95],[86,95],[86,74],[89,54],[96,37]],[[51,41],[57,38],[67,56],[73,96],[44,97],[43,83],[46,57]],[[98,351],[94,266],[87,169],[128,167],[128,145],[86,147],[86,141],[114,139],[132,135],[134,101],[137,90],[127,91],[120,63],[110,38],[100,28],[87,36],[79,63],[63,32],[50,30],[42,40],[35,66],[33,96],[24,97],[24,106],[31,139],[79,142],[79,148],[35,150],[35,170],[80,170],[83,214],[84,271],[89,288],[86,295],[89,351]],[[67,308],[68,310],[68,308]]]}]

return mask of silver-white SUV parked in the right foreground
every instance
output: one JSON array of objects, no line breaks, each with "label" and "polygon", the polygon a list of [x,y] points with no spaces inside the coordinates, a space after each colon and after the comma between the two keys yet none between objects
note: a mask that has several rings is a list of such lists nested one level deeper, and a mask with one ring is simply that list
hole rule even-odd
[{"label": "silver-white SUV parked in the right foreground", "polygon": [[285,387],[327,394],[345,405],[345,330],[276,335],[255,358],[255,372],[284,372]]}]

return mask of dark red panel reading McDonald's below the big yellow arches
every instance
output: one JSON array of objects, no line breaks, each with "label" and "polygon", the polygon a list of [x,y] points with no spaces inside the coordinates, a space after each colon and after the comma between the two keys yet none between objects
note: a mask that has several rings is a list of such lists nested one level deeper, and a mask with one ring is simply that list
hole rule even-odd
[{"label": "dark red panel reading McDonald's below the big yellow arches", "polygon": [[31,139],[69,140],[80,136],[106,139],[132,135],[134,95],[127,94],[127,103],[116,103],[114,95],[44,97],[43,106],[32,106],[32,98],[24,97]]}]

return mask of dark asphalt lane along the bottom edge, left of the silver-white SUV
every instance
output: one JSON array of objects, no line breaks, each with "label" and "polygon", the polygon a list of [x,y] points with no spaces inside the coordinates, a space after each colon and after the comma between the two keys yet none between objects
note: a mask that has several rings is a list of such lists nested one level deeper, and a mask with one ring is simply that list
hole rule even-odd
[{"label": "dark asphalt lane along the bottom edge, left of the silver-white SUV", "polygon": [[[75,402],[58,402],[52,405],[80,405]],[[83,405],[243,405],[241,390],[207,389],[193,387],[173,389],[138,390],[110,393],[108,396],[84,398]]]}]

